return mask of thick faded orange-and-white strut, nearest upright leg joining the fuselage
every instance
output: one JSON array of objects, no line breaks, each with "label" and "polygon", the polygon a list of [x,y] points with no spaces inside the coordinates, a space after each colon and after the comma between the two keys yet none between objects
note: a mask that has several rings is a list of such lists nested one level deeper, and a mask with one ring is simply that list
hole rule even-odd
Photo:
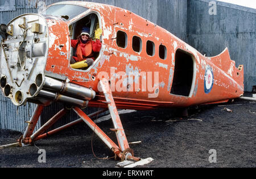
[{"label": "thick faded orange-and-white strut, nearest upright leg joining the fuselage", "polygon": [[122,122],[119,117],[117,107],[115,106],[109,81],[105,78],[100,79],[100,86],[103,90],[106,102],[108,103],[109,112],[112,118],[112,122],[114,124],[113,131],[115,131],[115,134],[117,135],[119,148],[121,148],[122,151],[125,151],[125,149],[129,148],[129,144],[126,139],[125,131],[123,130]]}]

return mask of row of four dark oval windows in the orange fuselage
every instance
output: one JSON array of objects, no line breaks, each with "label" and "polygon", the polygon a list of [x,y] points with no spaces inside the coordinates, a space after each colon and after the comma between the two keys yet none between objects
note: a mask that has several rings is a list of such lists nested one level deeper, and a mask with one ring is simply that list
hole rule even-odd
[{"label": "row of four dark oval windows in the orange fuselage", "polygon": [[[135,52],[141,52],[142,50],[142,40],[138,36],[133,36],[133,50]],[[117,46],[121,48],[127,47],[127,34],[123,31],[117,32]],[[148,40],[146,45],[146,52],[149,56],[155,55],[155,43]],[[167,49],[164,45],[159,45],[159,57],[165,60],[167,57]]]}]

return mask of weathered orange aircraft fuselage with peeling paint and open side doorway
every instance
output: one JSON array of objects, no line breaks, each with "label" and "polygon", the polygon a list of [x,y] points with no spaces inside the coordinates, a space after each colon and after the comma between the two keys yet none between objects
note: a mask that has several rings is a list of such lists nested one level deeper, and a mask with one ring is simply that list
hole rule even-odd
[{"label": "weathered orange aircraft fuselage with peeling paint and open side doorway", "polygon": [[[128,10],[91,2],[56,3],[60,4],[83,6],[89,11],[67,21],[44,16],[49,34],[45,72],[96,91],[88,106],[106,107],[98,89],[102,75],[110,81],[119,109],[186,107],[226,102],[243,94],[243,66],[236,68],[228,49],[218,56],[205,57],[167,30]],[[72,24],[92,13],[102,28],[101,52],[89,69],[73,69]]]}]

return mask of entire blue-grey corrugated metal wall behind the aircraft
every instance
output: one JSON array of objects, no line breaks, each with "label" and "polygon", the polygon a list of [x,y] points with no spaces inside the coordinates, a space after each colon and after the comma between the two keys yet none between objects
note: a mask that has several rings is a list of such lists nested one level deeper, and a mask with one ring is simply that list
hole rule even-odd
[{"label": "entire blue-grey corrugated metal wall behind the aircraft", "polygon": [[[8,23],[11,19],[24,13],[37,13],[40,3],[50,5],[59,0],[11,0],[15,3],[14,11],[0,11],[0,22]],[[6,2],[11,2],[7,1]],[[227,3],[217,3],[217,15],[209,15],[208,0],[88,0],[89,2],[106,3],[130,10],[135,14],[166,28],[181,40],[192,45],[207,56],[218,55],[225,47],[230,50],[230,56],[238,64],[245,65],[245,90],[250,91],[256,84],[255,73],[255,10],[234,6]],[[5,1],[3,1],[5,3]],[[11,4],[11,3],[10,3]],[[2,1],[1,1],[2,5]],[[13,7],[12,7],[13,8]],[[19,107],[9,99],[0,96],[0,128],[22,131],[29,120],[35,105]],[[51,118],[62,105],[55,103],[46,107],[41,116],[41,122]],[[96,111],[86,109],[86,113]],[[71,113],[65,115],[53,127],[77,119]],[[39,124],[40,126],[40,124]],[[39,127],[37,126],[37,128]]]}]

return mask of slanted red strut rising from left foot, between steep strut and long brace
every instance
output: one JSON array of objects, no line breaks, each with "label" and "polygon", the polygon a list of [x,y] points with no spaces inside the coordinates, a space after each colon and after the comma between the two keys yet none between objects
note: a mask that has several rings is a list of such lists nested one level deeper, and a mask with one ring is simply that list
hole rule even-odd
[{"label": "slanted red strut rising from left foot, between steep strut and long brace", "polygon": [[62,118],[67,113],[67,109],[62,109],[59,113],[55,114],[51,119],[49,119],[42,127],[39,128],[34,134],[31,135],[31,140],[34,140],[37,136],[46,131],[49,127],[51,127],[54,123],[57,122],[60,118]]}]

